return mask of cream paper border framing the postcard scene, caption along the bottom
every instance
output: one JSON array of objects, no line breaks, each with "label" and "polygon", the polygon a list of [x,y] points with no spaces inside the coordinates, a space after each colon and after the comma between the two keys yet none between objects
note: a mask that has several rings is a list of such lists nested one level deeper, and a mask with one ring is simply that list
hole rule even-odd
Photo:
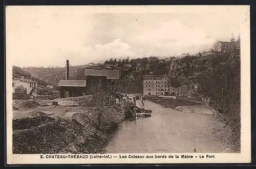
[{"label": "cream paper border framing the postcard scene, caption along the bottom", "polygon": [[[84,8],[89,13],[175,13],[175,12],[207,12],[214,8],[236,8],[244,15],[241,23],[241,153],[161,153],[161,154],[104,154],[111,158],[90,158],[95,155],[84,154],[78,158],[64,159],[40,158],[40,154],[19,155],[12,154],[12,58],[8,57],[8,39],[6,40],[6,121],[7,121],[7,164],[114,164],[114,163],[247,163],[251,161],[251,110],[250,110],[250,7],[249,6],[8,6],[6,8],[6,23],[15,12],[15,8]],[[234,18],[235,19],[235,18]],[[7,27],[6,29],[9,29]],[[6,35],[8,38],[8,35]],[[71,155],[71,154],[66,154]],[[98,154],[102,155],[102,154]],[[166,158],[120,158],[126,155],[165,155]],[[192,155],[194,158],[176,158],[176,155]],[[214,155],[215,158],[206,158]],[[114,157],[117,156],[117,157]],[[172,158],[173,156],[173,158]],[[198,158],[195,158],[198,156]],[[204,158],[199,158],[199,157]],[[49,156],[48,156],[49,157]],[[59,157],[59,158],[58,158]],[[63,156],[62,156],[63,157]],[[81,157],[81,158],[80,158]],[[84,157],[84,158],[82,158]]]}]

